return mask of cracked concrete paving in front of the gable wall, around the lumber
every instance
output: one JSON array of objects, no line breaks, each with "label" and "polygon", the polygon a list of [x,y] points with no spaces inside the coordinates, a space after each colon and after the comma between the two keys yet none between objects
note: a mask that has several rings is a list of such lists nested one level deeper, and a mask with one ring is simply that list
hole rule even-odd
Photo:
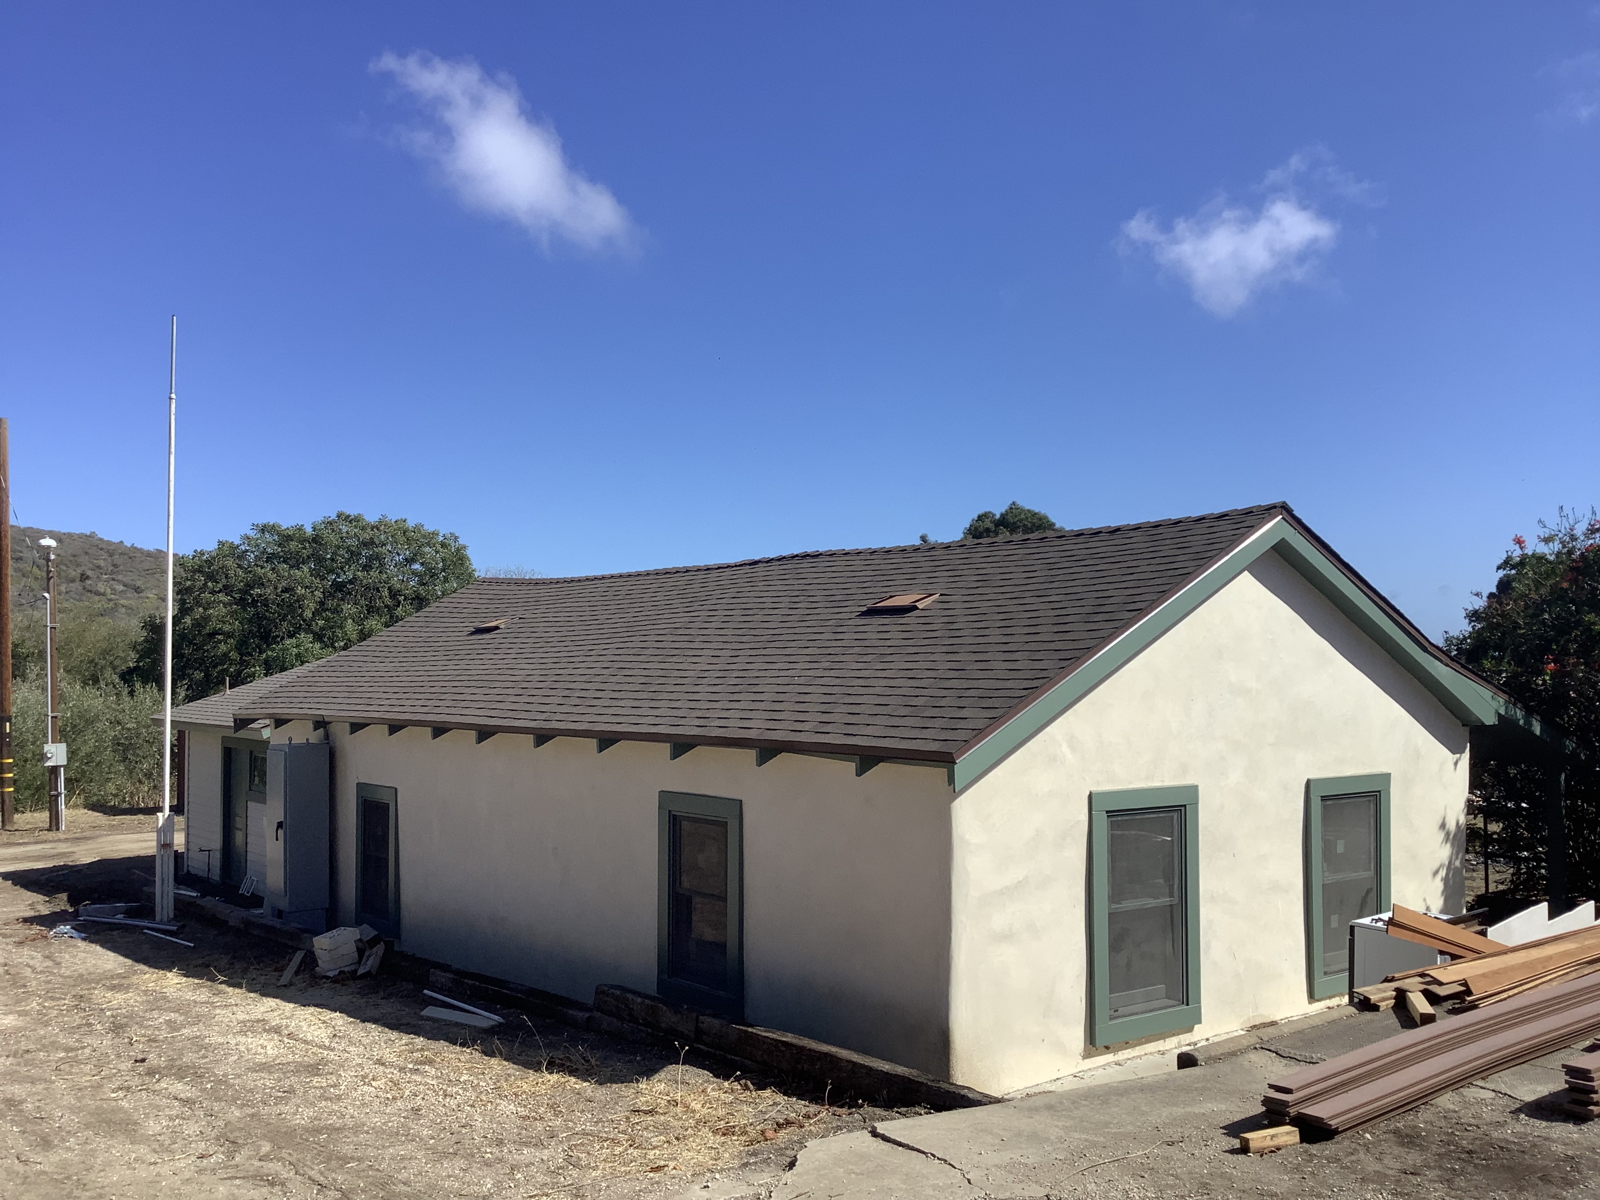
[{"label": "cracked concrete paving in front of the gable wall, around the lumber", "polygon": [[1395,1032],[1392,1013],[1350,1013],[1210,1066],[885,1122],[811,1142],[768,1194],[773,1200],[1594,1194],[1573,1187],[1600,1179],[1600,1122],[1581,1126],[1557,1110],[1557,1064],[1566,1051],[1366,1131],[1259,1158],[1238,1152],[1238,1133],[1264,1125],[1261,1093],[1269,1080]]}]

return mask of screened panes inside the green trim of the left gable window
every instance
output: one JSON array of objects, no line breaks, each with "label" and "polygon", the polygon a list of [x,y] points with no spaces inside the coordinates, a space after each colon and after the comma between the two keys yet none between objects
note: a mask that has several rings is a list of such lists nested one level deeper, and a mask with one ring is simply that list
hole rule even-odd
[{"label": "screened panes inside the green trim of the left gable window", "polygon": [[1178,1008],[1187,1003],[1184,813],[1110,813],[1106,826],[1110,1018]]}]

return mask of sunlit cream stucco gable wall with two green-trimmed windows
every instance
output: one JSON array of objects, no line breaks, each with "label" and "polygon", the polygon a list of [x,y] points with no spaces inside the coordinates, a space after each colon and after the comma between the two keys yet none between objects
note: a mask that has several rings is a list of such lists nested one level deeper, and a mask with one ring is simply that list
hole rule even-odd
[{"label": "sunlit cream stucco gable wall with two green-trimmed windows", "polygon": [[1389,771],[1394,899],[1459,910],[1467,733],[1277,555],[973,782],[954,808],[954,1078],[1011,1091],[1090,1050],[1091,790],[1200,789],[1203,1024],[1307,1011],[1306,781]]}]

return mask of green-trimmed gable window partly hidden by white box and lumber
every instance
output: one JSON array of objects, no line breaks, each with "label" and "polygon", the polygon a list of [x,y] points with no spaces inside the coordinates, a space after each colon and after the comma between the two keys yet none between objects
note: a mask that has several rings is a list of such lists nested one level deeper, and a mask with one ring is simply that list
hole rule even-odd
[{"label": "green-trimmed gable window partly hidden by white box and lumber", "polygon": [[1350,922],[1389,910],[1389,776],[1306,786],[1306,974],[1312,1000],[1350,987]]}]

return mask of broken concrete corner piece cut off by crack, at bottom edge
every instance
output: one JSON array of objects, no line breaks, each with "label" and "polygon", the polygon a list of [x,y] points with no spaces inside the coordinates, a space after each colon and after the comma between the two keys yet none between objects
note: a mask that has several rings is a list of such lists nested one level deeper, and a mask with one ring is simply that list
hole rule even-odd
[{"label": "broken concrete corner piece cut off by crack, at bottom edge", "polygon": [[870,1133],[845,1133],[800,1150],[773,1200],[982,1200],[982,1195],[947,1163]]}]

